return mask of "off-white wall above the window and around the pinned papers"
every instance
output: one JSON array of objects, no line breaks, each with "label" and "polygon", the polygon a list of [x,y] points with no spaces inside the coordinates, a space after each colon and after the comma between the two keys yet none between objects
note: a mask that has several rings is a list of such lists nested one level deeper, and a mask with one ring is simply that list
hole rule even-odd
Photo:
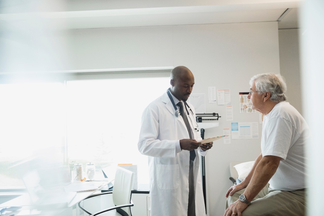
[{"label": "off-white wall above the window and around the pinned papers", "polygon": [[[276,22],[166,27],[70,30],[71,62],[67,69],[187,66],[195,75],[193,93],[208,87],[230,89],[234,122],[258,122],[258,114],[239,114],[238,92],[249,90],[258,73],[279,73]],[[205,138],[230,128],[225,105],[206,103],[206,112],[222,117],[219,127],[206,129]],[[229,162],[252,161],[260,154],[259,139],[217,141],[206,156],[206,181],[211,215],[222,215],[231,186]]]}]

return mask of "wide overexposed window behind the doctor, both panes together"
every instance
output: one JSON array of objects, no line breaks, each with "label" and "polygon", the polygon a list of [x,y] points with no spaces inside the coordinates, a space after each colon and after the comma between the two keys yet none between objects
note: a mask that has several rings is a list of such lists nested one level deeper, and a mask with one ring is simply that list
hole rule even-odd
[{"label": "wide overexposed window behind the doctor, both panes together", "polygon": [[110,164],[137,164],[138,182],[148,183],[141,116],[168,87],[169,77],[0,84],[0,187],[22,187],[28,171],[66,161],[83,170],[94,162],[98,178]]}]

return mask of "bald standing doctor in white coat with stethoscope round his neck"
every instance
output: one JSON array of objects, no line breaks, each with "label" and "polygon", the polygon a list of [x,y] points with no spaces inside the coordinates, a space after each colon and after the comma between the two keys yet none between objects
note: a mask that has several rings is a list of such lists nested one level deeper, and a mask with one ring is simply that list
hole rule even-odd
[{"label": "bald standing doctor in white coat with stethoscope round his neck", "polygon": [[194,83],[187,67],[175,67],[168,92],[142,115],[138,150],[148,156],[152,216],[206,215],[198,153],[206,155],[213,143],[199,142],[195,110],[186,102]]}]

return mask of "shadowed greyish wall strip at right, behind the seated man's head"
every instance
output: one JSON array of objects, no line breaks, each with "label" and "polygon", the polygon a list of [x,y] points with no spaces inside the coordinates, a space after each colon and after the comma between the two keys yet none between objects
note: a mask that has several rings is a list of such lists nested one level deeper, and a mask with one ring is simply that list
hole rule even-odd
[{"label": "shadowed greyish wall strip at right, behind the seated man's head", "polygon": [[303,115],[300,86],[299,30],[280,29],[280,73],[287,83],[287,102]]}]

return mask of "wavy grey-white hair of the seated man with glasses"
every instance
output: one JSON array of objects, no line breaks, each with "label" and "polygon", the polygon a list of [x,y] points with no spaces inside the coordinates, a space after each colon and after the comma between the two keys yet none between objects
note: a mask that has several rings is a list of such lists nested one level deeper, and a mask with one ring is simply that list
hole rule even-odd
[{"label": "wavy grey-white hair of the seated man with glasses", "polygon": [[284,77],[280,74],[258,74],[250,79],[250,85],[252,85],[254,81],[256,90],[259,94],[263,94],[265,92],[271,93],[271,101],[281,102],[287,100],[287,97],[285,95],[287,85]]}]

